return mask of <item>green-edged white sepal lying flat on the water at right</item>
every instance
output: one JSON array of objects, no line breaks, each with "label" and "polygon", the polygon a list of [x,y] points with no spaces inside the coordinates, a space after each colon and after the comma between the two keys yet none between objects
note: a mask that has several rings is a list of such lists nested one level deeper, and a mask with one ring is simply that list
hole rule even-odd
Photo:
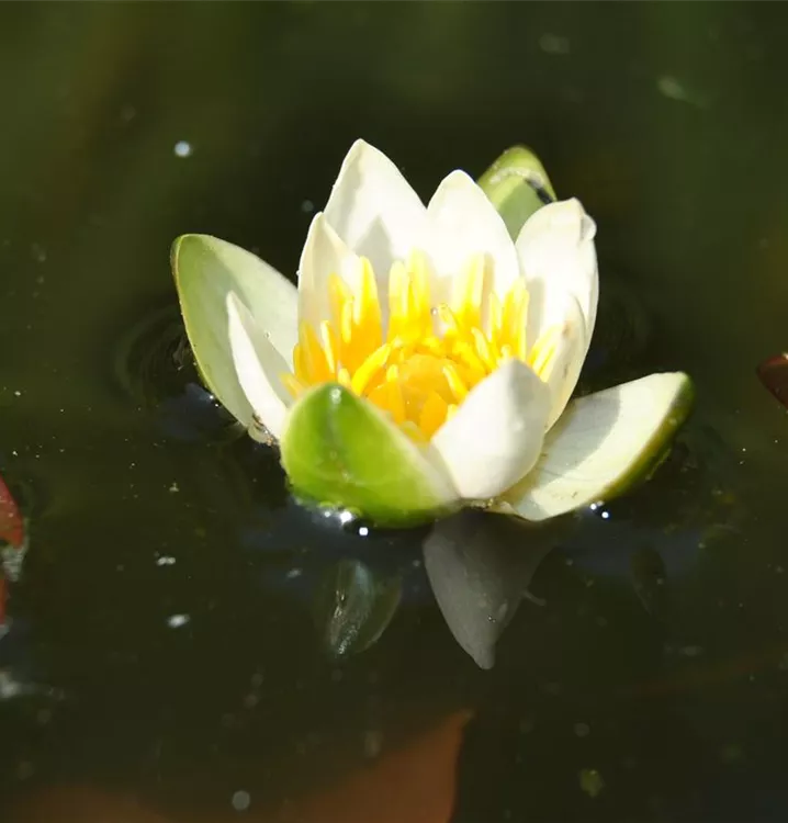
[{"label": "green-edged white sepal lying flat on the water at right", "polygon": [[503,496],[500,510],[544,520],[622,493],[662,455],[691,397],[689,377],[668,372],[574,401],[544,439],[536,469]]}]

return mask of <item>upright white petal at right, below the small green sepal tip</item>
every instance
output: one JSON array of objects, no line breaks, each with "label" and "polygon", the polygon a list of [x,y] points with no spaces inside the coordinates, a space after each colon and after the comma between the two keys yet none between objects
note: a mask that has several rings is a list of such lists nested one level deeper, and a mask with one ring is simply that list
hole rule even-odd
[{"label": "upright white petal at right, below the small green sepal tip", "polygon": [[596,224],[578,200],[550,203],[522,227],[516,247],[530,293],[529,346],[553,324],[563,322],[566,297],[572,295],[583,313],[588,350],[599,295],[595,235]]}]

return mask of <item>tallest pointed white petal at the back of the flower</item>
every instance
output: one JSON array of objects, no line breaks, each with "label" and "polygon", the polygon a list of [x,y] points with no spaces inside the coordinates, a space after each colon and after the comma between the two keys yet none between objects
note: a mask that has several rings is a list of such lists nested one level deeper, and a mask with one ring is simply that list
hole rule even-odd
[{"label": "tallest pointed white petal at the back of the flower", "polygon": [[356,140],[348,151],[325,214],[379,275],[421,245],[427,218],[424,203],[397,167],[364,140]]}]

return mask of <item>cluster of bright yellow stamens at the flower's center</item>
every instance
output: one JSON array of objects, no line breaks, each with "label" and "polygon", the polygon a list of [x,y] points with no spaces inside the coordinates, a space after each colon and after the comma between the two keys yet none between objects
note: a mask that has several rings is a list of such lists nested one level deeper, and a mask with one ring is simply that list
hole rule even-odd
[{"label": "cluster of bright yellow stamens at the flower's center", "polygon": [[452,305],[434,306],[425,258],[414,252],[406,264],[392,267],[384,324],[375,275],[362,258],[358,289],[337,274],[329,278],[330,319],[318,329],[300,324],[294,373],[282,381],[294,397],[309,386],[340,383],[425,440],[473,386],[511,358],[547,380],[560,329],[548,329],[528,351],[525,280],[516,280],[500,300],[485,295],[486,274],[485,257],[473,256],[453,284]]}]

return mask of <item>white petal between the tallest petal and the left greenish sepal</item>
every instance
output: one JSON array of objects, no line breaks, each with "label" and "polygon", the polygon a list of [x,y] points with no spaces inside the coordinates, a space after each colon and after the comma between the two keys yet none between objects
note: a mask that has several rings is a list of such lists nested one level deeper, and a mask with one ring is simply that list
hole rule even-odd
[{"label": "white petal between the tallest petal and the left greenish sepal", "polygon": [[323,212],[309,224],[299,263],[299,319],[317,330],[330,319],[328,279],[339,274],[351,289],[359,282],[360,261],[331,228]]}]

